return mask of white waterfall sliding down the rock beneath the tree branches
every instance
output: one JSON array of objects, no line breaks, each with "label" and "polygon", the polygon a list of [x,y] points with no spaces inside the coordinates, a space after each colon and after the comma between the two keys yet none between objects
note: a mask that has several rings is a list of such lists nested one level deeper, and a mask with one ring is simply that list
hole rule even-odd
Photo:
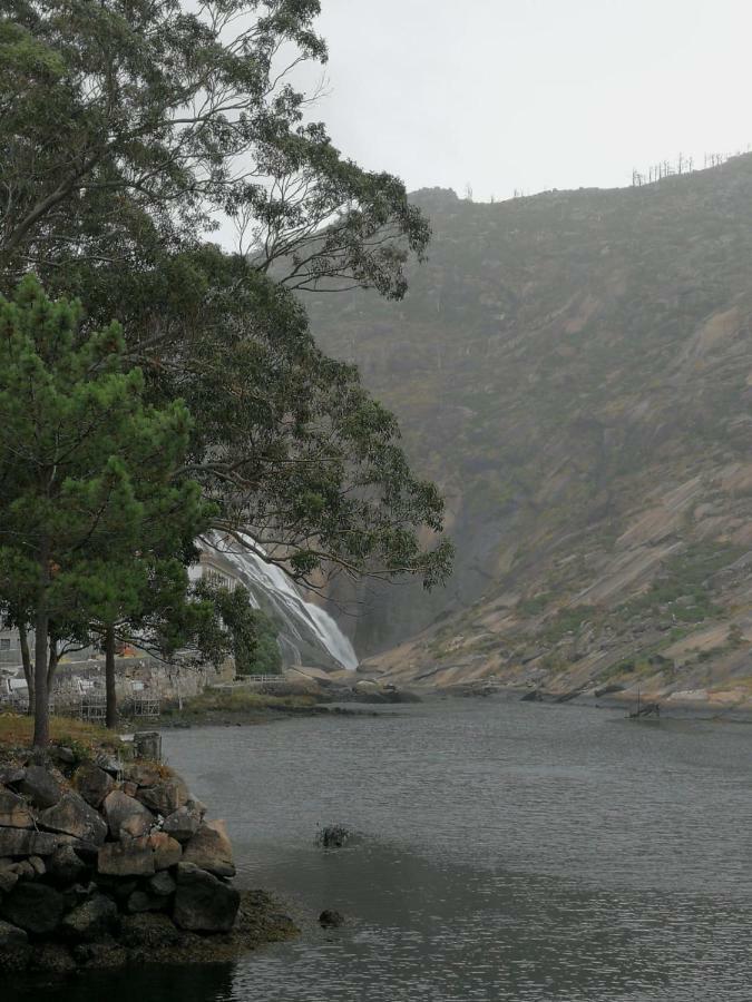
[{"label": "white waterfall sliding down the rock beneath the tree branches", "polygon": [[283,570],[216,533],[202,549],[207,557],[216,556],[231,564],[234,576],[248,589],[254,608],[271,612],[280,622],[280,647],[286,664],[301,665],[310,659],[309,664],[322,667],[358,668],[358,655],[334,619],[306,601]]}]

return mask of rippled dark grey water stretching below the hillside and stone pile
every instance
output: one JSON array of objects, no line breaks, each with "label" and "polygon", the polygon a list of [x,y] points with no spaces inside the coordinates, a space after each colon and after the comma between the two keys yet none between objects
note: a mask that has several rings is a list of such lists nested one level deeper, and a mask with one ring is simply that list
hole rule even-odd
[{"label": "rippled dark grey water stretching below the hillside and stone pile", "polygon": [[[749,727],[491,699],[165,741],[243,883],[346,927],[35,998],[752,1000]],[[324,852],[332,823],[364,837]]]}]

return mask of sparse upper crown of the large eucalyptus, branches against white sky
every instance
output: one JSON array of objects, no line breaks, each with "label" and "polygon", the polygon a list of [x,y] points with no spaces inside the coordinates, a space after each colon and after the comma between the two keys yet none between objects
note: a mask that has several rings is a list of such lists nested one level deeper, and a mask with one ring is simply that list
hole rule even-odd
[{"label": "sparse upper crown of the large eucalyptus, branches against white sky", "polygon": [[309,99],[290,82],[300,62],[326,59],[319,11],[319,0],[7,0],[0,267],[62,277],[91,307],[92,284],[101,293],[225,216],[254,267],[291,287],[401,296],[426,220],[401,181],[344,159],[305,120]]}]

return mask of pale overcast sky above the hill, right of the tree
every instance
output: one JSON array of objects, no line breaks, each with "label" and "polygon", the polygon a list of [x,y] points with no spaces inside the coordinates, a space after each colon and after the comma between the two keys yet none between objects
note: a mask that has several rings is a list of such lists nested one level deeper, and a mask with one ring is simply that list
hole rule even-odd
[{"label": "pale overcast sky above the hill, right of the tree", "polygon": [[752,143],[751,0],[322,0],[315,117],[363,166],[477,200],[631,183]]}]

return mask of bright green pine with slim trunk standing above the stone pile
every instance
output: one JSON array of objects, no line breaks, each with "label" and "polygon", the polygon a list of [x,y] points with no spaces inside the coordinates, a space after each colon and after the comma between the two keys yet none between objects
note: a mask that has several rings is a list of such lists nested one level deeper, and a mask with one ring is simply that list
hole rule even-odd
[{"label": "bright green pine with slim trunk standing above the stone pile", "polygon": [[102,595],[126,600],[133,558],[153,546],[158,521],[193,512],[192,532],[205,524],[199,487],[175,479],[186,407],[145,404],[119,326],[81,334],[80,318],[78,304],[51,302],[30,277],[12,301],[0,297],[0,598],[32,622],[39,746],[50,633],[78,628]]}]

